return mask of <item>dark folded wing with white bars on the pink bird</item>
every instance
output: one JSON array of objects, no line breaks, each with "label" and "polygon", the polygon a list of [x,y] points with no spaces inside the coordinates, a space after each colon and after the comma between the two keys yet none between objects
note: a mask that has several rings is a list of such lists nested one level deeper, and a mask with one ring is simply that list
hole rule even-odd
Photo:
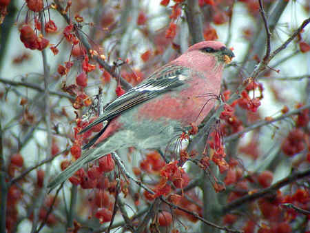
[{"label": "dark folded wing with white bars on the pink bird", "polygon": [[189,74],[189,68],[179,65],[165,65],[160,70],[157,70],[148,79],[139,83],[134,88],[118,97],[104,109],[103,115],[87,125],[79,134],[90,130],[94,125],[103,121],[110,121],[130,110],[135,105],[143,103],[149,99],[157,97],[163,92],[173,90],[180,85],[185,84]]}]

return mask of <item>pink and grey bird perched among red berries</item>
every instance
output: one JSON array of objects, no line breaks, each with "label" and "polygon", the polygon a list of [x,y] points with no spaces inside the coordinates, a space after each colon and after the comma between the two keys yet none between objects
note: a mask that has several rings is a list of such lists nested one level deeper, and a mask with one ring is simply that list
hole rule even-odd
[{"label": "pink and grey bird perched among red berries", "polygon": [[[103,115],[80,133],[106,121],[81,158],[49,184],[54,188],[83,165],[121,148],[158,149],[169,144],[190,123],[199,124],[214,106],[210,94],[220,93],[225,63],[234,53],[218,41],[192,45],[184,54],[118,97]],[[95,144],[94,146],[92,146]]]}]

